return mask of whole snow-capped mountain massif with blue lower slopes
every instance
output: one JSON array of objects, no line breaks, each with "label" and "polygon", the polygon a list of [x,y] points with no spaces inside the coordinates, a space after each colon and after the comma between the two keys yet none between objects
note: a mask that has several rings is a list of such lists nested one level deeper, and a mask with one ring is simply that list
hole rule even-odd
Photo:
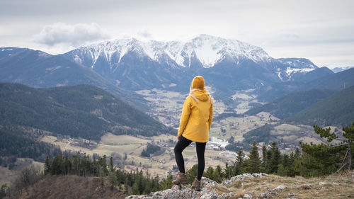
[{"label": "whole snow-capped mountain massif with blue lower slopes", "polygon": [[[270,57],[239,40],[199,35],[187,41],[108,40],[64,54],[125,89],[187,87],[185,77],[208,76],[213,86],[249,89],[270,82],[296,81],[318,69],[308,59]],[[173,86],[174,87],[174,86]],[[235,89],[235,88],[233,88]]]}]

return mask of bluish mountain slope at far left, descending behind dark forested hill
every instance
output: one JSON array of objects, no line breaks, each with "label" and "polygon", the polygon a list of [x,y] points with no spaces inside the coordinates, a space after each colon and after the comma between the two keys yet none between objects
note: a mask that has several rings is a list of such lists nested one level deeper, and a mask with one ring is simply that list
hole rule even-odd
[{"label": "bluish mountain slope at far left, descending behind dark forested hill", "polygon": [[[0,48],[7,52],[9,48]],[[0,59],[0,81],[16,82],[28,86],[48,88],[91,84],[113,93],[130,104],[144,110],[144,99],[137,93],[125,91],[111,84],[91,69],[70,61],[62,55],[49,55],[30,49],[10,48],[11,55]]]}]

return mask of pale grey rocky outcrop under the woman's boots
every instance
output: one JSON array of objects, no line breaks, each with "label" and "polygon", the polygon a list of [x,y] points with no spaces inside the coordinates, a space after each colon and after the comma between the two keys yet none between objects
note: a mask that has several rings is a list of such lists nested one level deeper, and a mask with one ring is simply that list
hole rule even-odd
[{"label": "pale grey rocky outcrop under the woman's boots", "polygon": [[[210,180],[209,178],[202,178],[202,190],[194,191],[190,188],[190,185],[185,186],[172,186],[171,189],[164,191],[157,191],[150,193],[149,195],[130,195],[125,199],[178,199],[178,198],[204,198],[204,199],[222,199],[222,198],[234,198],[235,193],[222,193],[218,194],[216,191],[217,186],[226,186],[234,183],[234,181],[242,181],[244,178],[261,178],[262,176],[268,176],[268,174],[243,174],[239,176],[234,176],[227,181],[222,183],[217,183]],[[252,195],[245,194],[244,197],[250,198]]]}]

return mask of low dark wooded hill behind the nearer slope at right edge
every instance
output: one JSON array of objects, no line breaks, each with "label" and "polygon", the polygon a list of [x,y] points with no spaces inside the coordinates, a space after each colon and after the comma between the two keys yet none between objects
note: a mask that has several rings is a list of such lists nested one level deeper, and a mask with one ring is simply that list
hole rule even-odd
[{"label": "low dark wooded hill behind the nearer slope at right edge", "polygon": [[245,114],[256,115],[263,111],[271,113],[277,118],[284,119],[312,106],[312,104],[321,101],[328,96],[331,96],[333,93],[335,93],[335,91],[319,89],[290,93],[270,103],[252,108]]}]

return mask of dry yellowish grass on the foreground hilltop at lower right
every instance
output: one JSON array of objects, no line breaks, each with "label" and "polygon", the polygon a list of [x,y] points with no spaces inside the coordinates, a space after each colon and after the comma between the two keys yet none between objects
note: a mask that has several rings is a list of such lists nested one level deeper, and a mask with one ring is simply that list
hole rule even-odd
[{"label": "dry yellowish grass on the foreground hilltop at lower right", "polygon": [[[326,183],[324,185],[320,182]],[[285,186],[282,191],[273,191],[278,186]],[[311,185],[311,186],[308,186]],[[246,178],[235,181],[231,186],[219,186],[217,193],[234,192],[237,195],[249,193],[258,197],[261,193],[271,193],[270,198],[354,198],[354,172],[333,174],[322,178],[295,178],[266,176],[263,178]],[[276,194],[276,193],[278,194]],[[295,193],[295,195],[289,195]]]}]

